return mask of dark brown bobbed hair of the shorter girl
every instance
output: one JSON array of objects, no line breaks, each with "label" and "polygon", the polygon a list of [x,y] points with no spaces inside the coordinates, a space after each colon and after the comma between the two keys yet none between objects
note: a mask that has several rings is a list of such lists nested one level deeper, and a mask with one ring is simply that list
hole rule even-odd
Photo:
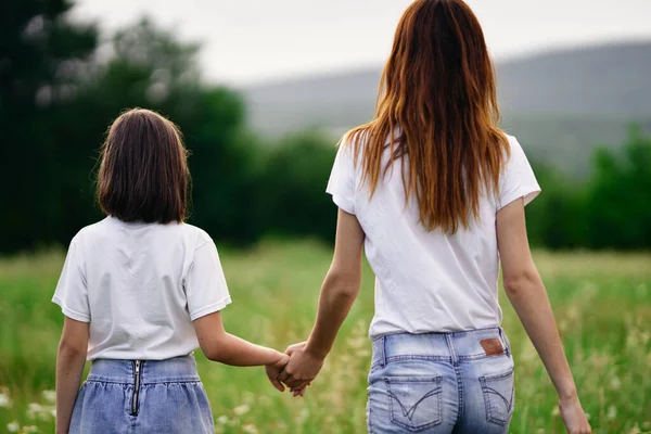
[{"label": "dark brown bobbed hair of the shorter girl", "polygon": [[144,108],[123,113],[101,150],[98,202],[123,221],[186,219],[190,171],[178,127]]}]

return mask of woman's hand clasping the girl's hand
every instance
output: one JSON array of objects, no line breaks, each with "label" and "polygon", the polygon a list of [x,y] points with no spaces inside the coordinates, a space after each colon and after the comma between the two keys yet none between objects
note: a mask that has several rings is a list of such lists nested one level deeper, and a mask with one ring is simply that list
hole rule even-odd
[{"label": "woman's hand clasping the girl's hand", "polygon": [[285,353],[290,362],[278,375],[278,380],[286,384],[294,396],[303,395],[307,387],[323,367],[323,358],[307,350],[307,343],[302,342],[288,347]]}]

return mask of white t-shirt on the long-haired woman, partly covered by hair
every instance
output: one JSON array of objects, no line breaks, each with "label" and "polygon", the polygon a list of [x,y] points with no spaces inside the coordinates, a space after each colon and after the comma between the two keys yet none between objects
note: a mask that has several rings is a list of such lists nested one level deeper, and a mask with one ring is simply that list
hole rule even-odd
[{"label": "white t-shirt on the long-haired woman, partly covered by hair", "polygon": [[451,235],[423,228],[414,197],[405,206],[399,161],[369,200],[368,187],[361,182],[361,158],[355,165],[354,148],[342,143],[327,191],[340,208],[357,216],[366,234],[366,256],[375,273],[372,339],[500,326],[496,214],[520,197],[527,204],[540,192],[520,143],[508,139],[511,156],[499,197],[483,195],[480,219]]}]

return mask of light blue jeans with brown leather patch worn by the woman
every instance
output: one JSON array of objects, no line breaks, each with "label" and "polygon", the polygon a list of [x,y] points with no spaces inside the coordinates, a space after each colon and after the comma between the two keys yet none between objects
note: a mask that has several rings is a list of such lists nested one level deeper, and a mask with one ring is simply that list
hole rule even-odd
[{"label": "light blue jeans with brown leather patch worn by the woman", "polygon": [[513,358],[499,328],[373,341],[371,434],[507,433],[513,404]]}]

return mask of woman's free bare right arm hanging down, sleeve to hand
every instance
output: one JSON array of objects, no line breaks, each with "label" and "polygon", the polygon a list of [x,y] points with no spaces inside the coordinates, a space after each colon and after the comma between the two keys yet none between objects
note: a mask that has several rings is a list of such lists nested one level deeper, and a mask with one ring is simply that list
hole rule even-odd
[{"label": "woman's free bare right arm hanging down, sleeve to hand", "polygon": [[547,291],[532,258],[522,199],[497,213],[497,242],[505,291],[559,394],[567,431],[589,433]]}]

